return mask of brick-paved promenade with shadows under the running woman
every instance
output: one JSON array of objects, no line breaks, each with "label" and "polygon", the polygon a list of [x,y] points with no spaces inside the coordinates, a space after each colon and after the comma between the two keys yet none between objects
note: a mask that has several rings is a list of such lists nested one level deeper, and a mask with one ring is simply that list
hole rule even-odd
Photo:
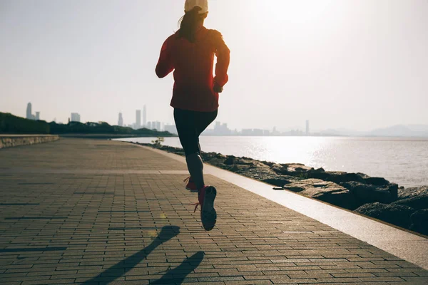
[{"label": "brick-paved promenade with shadows under the running woman", "polygon": [[428,284],[428,271],[213,175],[218,223],[205,232],[187,176],[125,142],[0,150],[0,284]]}]

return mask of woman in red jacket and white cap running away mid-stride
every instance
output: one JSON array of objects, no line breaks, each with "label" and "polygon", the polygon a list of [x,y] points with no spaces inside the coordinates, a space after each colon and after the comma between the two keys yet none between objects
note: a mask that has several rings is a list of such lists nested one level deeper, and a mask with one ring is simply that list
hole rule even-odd
[{"label": "woman in red jacket and white cap running away mid-stride", "polygon": [[[217,117],[218,93],[228,82],[229,48],[220,32],[203,26],[208,16],[208,0],[186,0],[180,29],[166,39],[156,66],[164,78],[174,71],[174,120],[190,172],[186,188],[198,190],[200,219],[205,230],[215,226],[214,199],[217,190],[205,185],[199,135]],[[213,76],[214,55],[217,56]]]}]

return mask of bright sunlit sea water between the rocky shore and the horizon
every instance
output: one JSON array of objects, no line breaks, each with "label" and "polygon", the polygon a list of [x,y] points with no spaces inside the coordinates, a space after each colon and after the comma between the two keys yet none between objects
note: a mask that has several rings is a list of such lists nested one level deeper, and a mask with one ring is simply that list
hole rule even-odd
[{"label": "bright sunlit sea water between the rocky shore and the horizon", "polygon": [[[153,138],[128,141],[151,142]],[[325,170],[364,172],[399,185],[428,185],[428,140],[406,138],[201,137],[205,152],[278,163],[299,162]],[[178,138],[163,145],[181,147]]]}]

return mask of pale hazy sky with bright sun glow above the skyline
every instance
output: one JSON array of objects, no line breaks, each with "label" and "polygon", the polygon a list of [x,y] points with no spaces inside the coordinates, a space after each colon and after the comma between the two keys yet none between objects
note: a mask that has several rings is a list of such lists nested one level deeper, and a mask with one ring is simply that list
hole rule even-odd
[{"label": "pale hazy sky with bright sun glow above the skyline", "polygon": [[[173,123],[154,69],[184,0],[0,0],[0,111]],[[428,124],[428,0],[210,0],[231,50],[230,128]]]}]

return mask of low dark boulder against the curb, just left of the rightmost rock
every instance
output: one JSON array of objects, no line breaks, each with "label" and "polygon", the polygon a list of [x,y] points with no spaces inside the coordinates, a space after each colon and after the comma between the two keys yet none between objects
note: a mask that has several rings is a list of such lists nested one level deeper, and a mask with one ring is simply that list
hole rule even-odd
[{"label": "low dark boulder against the curb, just left of the rightmost rock", "polygon": [[414,209],[404,205],[375,202],[364,204],[356,209],[355,212],[409,229],[410,224],[412,224],[410,215],[413,214]]}]

